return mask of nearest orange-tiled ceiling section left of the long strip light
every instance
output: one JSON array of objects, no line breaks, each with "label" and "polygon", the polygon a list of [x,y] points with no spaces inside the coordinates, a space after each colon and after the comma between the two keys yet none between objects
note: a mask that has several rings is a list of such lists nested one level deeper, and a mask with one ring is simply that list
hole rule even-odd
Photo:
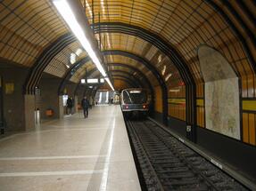
[{"label": "nearest orange-tiled ceiling section left of the long strip light", "polygon": [[0,1],[0,23],[0,57],[27,67],[69,32],[48,0]]}]

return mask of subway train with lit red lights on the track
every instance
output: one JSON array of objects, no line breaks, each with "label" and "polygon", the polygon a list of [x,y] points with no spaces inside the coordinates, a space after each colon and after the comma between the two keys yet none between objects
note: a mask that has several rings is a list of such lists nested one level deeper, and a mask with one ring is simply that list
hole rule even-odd
[{"label": "subway train with lit red lights on the track", "polygon": [[125,89],[120,93],[120,105],[126,117],[146,117],[149,112],[150,99],[143,88]]}]

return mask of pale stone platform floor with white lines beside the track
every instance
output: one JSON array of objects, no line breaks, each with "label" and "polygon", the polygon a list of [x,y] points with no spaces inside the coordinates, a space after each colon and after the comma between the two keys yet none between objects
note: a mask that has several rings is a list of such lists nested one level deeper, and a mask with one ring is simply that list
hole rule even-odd
[{"label": "pale stone platform floor with white lines beside the track", "polygon": [[0,139],[0,190],[141,190],[120,106]]}]

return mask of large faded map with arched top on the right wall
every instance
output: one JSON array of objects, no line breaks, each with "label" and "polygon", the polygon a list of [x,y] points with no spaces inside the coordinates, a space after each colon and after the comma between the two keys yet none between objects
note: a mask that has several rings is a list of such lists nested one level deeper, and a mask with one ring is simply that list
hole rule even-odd
[{"label": "large faded map with arched top on the right wall", "polygon": [[205,82],[206,128],[240,139],[238,77],[227,60],[211,47],[200,46],[198,57]]}]

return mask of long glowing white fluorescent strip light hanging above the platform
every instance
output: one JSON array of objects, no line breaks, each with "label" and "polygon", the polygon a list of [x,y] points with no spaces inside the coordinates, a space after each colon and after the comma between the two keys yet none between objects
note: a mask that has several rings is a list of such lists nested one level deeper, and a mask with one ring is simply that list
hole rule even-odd
[{"label": "long glowing white fluorescent strip light hanging above the platform", "polygon": [[[91,60],[95,63],[96,68],[98,68],[104,78],[107,78],[107,74],[103,69],[100,60],[97,58],[96,53],[92,48],[92,45],[87,39],[86,31],[84,31],[79,25],[78,20],[76,19],[74,13],[70,8],[70,4],[67,2],[67,0],[53,0],[53,3],[57,8],[58,12],[60,12],[60,14],[62,15],[62,18],[70,27],[73,34],[78,38],[79,43],[83,46]],[[107,82],[111,86],[111,89],[114,90],[110,80],[107,80]]]}]

